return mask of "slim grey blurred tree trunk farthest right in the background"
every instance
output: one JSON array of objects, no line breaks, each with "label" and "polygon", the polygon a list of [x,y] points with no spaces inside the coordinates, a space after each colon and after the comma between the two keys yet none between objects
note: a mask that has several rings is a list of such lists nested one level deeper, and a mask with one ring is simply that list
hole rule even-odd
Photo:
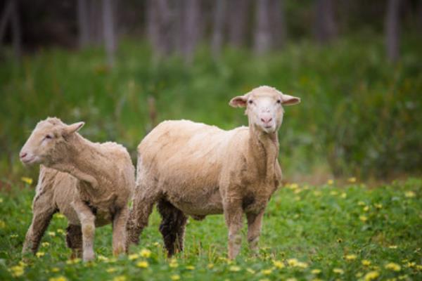
[{"label": "slim grey blurred tree trunk farthest right in the background", "polygon": [[390,61],[399,58],[399,6],[400,0],[388,0],[385,16],[385,49]]}]

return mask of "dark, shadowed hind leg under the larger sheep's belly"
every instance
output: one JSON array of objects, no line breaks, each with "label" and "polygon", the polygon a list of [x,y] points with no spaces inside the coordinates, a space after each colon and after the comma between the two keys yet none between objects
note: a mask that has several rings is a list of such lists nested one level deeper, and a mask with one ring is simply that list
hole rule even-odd
[{"label": "dark, shadowed hind leg under the larger sheep's belly", "polygon": [[157,207],[162,217],[160,233],[167,249],[167,255],[170,257],[183,251],[184,230],[188,218],[167,200],[160,200]]}]

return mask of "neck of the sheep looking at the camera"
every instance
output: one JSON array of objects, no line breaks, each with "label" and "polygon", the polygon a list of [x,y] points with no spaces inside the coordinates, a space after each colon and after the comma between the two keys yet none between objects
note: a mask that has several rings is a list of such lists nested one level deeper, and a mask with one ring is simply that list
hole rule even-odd
[{"label": "neck of the sheep looking at the camera", "polygon": [[264,176],[266,181],[274,179],[275,166],[279,157],[279,136],[277,131],[265,133],[254,125],[249,126],[249,150],[253,163],[257,165],[258,172]]}]

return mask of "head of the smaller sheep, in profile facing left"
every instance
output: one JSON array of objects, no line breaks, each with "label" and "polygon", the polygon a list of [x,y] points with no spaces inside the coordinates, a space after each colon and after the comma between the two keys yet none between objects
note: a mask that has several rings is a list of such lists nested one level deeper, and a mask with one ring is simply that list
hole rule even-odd
[{"label": "head of the smaller sheep, in profile facing left", "polygon": [[64,124],[58,118],[47,118],[38,122],[20,150],[23,164],[44,164],[51,166],[58,163],[65,155],[67,142],[75,132],[84,126],[84,122]]}]

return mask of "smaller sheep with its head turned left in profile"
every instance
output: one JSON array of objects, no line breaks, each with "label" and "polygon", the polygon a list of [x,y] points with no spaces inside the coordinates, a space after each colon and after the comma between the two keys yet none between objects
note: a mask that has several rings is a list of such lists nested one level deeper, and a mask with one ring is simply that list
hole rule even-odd
[{"label": "smaller sheep with its head turned left in profile", "polygon": [[113,254],[126,251],[128,202],[135,170],[126,148],[91,143],[77,131],[84,122],[64,124],[47,118],[37,124],[20,151],[23,164],[41,164],[32,202],[33,216],[23,254],[36,253],[53,214],[68,218],[71,258],[94,259],[95,228],[113,223]]}]

